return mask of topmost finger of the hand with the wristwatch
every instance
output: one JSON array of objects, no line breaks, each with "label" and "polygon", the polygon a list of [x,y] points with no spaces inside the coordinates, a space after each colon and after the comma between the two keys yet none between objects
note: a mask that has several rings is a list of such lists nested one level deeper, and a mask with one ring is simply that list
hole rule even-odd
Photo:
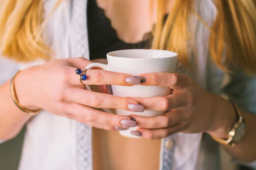
[{"label": "topmost finger of the hand with the wristwatch", "polygon": [[140,76],[146,77],[146,82],[142,85],[146,86],[166,86],[171,89],[182,89],[188,86],[188,76],[176,73],[147,73]]}]

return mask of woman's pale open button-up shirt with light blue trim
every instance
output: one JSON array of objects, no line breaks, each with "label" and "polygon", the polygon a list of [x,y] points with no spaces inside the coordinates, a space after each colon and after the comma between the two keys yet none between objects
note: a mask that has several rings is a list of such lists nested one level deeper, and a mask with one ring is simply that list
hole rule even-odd
[{"label": "woman's pale open button-up shirt with light blue trim", "polygon": [[[55,2],[45,1],[46,16]],[[196,0],[195,3],[199,15],[210,25],[216,14],[213,1]],[[86,4],[86,0],[63,1],[50,18],[44,37],[55,50],[55,58],[89,59]],[[240,108],[256,114],[256,77],[249,77],[238,69],[223,86],[224,73],[208,57],[207,28],[195,17],[191,23],[196,23],[191,30],[196,36],[197,54],[190,57],[196,70],[189,72],[178,65],[177,72],[188,74],[203,89],[218,95],[223,93]],[[43,62],[17,64],[0,58],[0,82],[10,79],[18,69]],[[159,169],[220,169],[218,154],[218,144],[209,135],[176,133],[161,142]],[[27,123],[19,170],[30,169],[92,170],[92,128],[43,111]]]}]

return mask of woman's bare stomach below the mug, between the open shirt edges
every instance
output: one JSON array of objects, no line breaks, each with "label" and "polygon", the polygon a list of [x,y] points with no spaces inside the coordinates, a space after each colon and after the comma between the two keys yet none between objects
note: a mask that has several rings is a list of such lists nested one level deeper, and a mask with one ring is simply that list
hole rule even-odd
[{"label": "woman's bare stomach below the mug, between the open shirt edges", "polygon": [[118,131],[93,128],[94,170],[159,169],[161,140],[142,140],[119,135]]}]

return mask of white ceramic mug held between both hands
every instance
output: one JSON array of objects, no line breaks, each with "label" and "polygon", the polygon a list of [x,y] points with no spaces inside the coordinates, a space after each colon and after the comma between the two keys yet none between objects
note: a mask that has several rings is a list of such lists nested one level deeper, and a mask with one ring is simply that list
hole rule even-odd
[{"label": "white ceramic mug held between both hands", "polygon": [[[85,69],[100,67],[111,72],[122,72],[139,76],[139,74],[150,72],[175,72],[177,54],[166,50],[118,50],[107,53],[107,64],[91,63]],[[90,89],[90,86],[87,86]],[[166,96],[171,93],[171,89],[161,86],[117,86],[112,85],[112,93],[115,96],[122,97],[154,97]],[[105,110],[110,112],[110,110]],[[118,115],[142,115],[155,116],[162,115],[165,111],[144,111],[132,112],[116,109]],[[130,134],[131,130],[136,130],[137,127],[129,128],[128,130],[120,130],[119,133],[126,137],[136,137]]]}]

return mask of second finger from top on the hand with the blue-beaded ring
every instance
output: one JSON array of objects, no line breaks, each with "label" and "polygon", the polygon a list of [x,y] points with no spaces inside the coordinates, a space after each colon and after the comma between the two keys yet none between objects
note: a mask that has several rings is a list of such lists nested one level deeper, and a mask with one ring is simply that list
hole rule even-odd
[{"label": "second finger from top on the hand with the blue-beaded ring", "polygon": [[[87,91],[87,90],[85,91],[77,87],[67,89],[65,91],[64,98],[67,101],[80,103],[82,105],[91,106],[94,108],[117,108],[117,109],[130,111],[129,106],[131,104],[133,106],[143,107],[142,105],[139,105],[138,102],[132,98],[112,96],[110,94],[102,94],[102,93],[97,93],[95,91]],[[134,108],[134,109],[137,109],[137,108]]]}]

